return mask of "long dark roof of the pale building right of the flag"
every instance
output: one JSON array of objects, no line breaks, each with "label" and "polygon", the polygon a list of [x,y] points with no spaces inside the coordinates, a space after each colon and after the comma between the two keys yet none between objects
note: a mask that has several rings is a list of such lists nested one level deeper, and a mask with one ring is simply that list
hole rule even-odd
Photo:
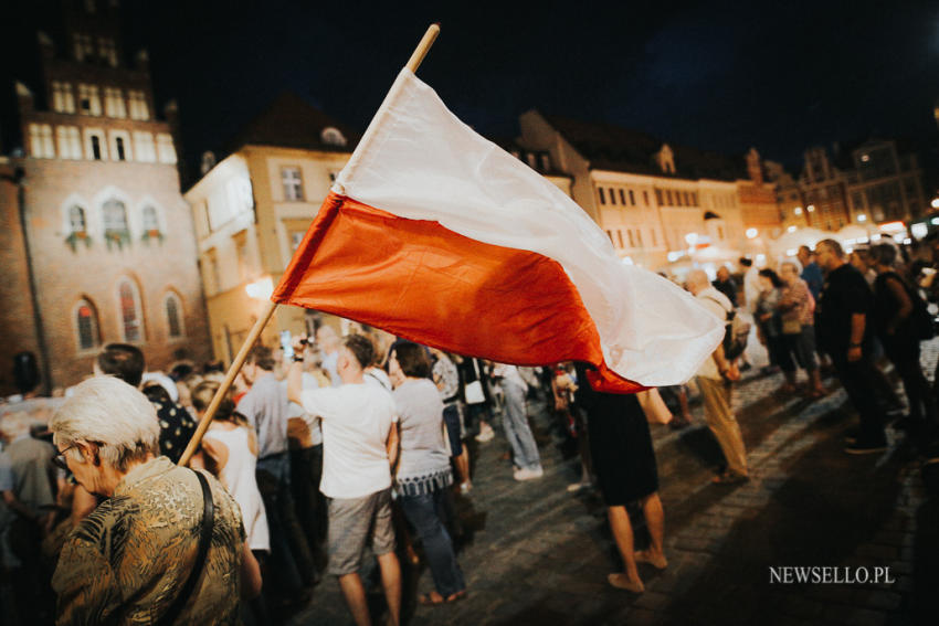
[{"label": "long dark roof of the pale building right of the flag", "polygon": [[665,140],[612,124],[579,121],[541,114],[587,160],[591,169],[667,176],[684,179],[734,181],[747,179],[747,163],[737,158],[667,142],[675,159],[675,173],[663,173],[655,155]]}]

